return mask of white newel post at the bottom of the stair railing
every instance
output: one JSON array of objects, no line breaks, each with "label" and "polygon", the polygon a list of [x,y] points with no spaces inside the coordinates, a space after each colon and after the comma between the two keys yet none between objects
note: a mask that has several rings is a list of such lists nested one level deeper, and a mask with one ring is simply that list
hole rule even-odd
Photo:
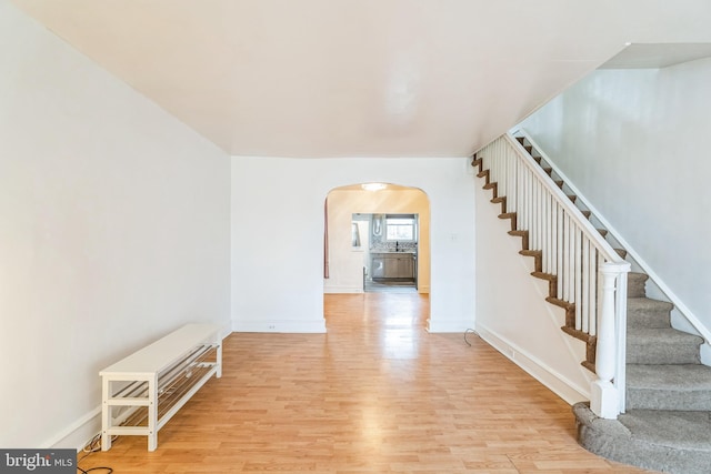
[{"label": "white newel post at the bottom of the stair railing", "polygon": [[[601,303],[598,314],[598,345],[595,351],[598,380],[592,383],[590,409],[601,418],[617,418],[620,414],[620,396],[624,396],[623,392],[619,393],[612,381],[615,377],[618,367],[617,359],[622,352],[618,351],[618,344],[624,343],[624,341],[620,342],[615,336],[615,327],[619,317],[625,319],[624,313],[619,314],[620,311],[625,311],[625,306],[615,304],[615,291],[620,282],[627,281],[627,279],[621,279],[620,275],[629,271],[630,264],[627,262],[608,262],[600,265]],[[618,295],[620,293],[624,295],[627,291],[622,290],[618,292]]]}]

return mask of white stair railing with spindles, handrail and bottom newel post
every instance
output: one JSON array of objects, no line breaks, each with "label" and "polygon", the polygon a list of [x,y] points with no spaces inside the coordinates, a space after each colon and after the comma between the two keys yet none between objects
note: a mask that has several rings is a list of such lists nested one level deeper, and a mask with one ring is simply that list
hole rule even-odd
[{"label": "white stair railing with spindles, handrail and bottom newel post", "polygon": [[515,229],[528,232],[529,249],[541,252],[542,272],[554,275],[557,300],[574,305],[574,330],[595,337],[590,407],[615,418],[624,412],[630,264],[510,133],[477,158],[505,196],[505,212],[515,213]]}]

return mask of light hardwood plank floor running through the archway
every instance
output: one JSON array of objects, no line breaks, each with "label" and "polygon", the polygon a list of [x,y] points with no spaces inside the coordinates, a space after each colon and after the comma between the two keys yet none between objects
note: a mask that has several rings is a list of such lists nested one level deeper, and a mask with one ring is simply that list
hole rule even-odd
[{"label": "light hardwood plank floor running through the archway", "polygon": [[[642,473],[575,443],[570,406],[473,334],[429,334],[427,295],[324,296],[327,334],[234,333],[147,451],[114,473]],[[81,454],[80,454],[81,456]]]}]

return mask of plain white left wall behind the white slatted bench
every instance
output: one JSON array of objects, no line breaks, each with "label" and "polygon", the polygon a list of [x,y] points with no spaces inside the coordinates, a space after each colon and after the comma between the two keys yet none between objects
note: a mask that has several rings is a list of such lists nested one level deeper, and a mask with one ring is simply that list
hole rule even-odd
[{"label": "plain white left wall behind the white slatted bench", "polygon": [[0,446],[99,432],[99,371],[229,326],[230,160],[0,1]]}]

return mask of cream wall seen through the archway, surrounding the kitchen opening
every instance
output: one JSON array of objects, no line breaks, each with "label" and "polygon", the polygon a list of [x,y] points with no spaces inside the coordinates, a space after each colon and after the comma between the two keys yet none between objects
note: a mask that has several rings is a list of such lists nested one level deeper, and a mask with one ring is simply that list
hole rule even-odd
[{"label": "cream wall seen through the archway, surrounding the kitchen opening", "polygon": [[[329,278],[323,282],[326,293],[362,293],[363,266],[368,248],[351,245],[351,222],[354,213],[418,214],[418,291],[430,292],[430,201],[418,189],[388,189],[377,192],[362,189],[337,189],[329,201]],[[364,224],[364,222],[361,222]],[[368,235],[363,235],[368,238]]]}]

